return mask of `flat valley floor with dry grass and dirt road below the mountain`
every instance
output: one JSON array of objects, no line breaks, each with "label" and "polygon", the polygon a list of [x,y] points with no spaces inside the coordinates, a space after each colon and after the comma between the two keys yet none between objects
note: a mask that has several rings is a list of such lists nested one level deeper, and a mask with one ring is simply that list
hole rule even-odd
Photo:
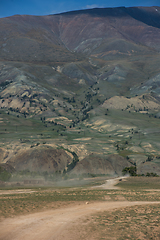
[{"label": "flat valley floor with dry grass and dirt road below the mountain", "polygon": [[159,184],[119,177],[90,187],[0,190],[0,240],[159,239]]}]

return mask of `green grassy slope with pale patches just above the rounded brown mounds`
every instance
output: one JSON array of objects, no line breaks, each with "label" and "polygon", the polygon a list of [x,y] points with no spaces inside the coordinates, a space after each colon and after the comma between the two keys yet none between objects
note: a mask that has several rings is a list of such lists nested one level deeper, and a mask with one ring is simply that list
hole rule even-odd
[{"label": "green grassy slope with pale patches just above the rounded brown mounds", "polygon": [[153,162],[159,165],[159,159],[156,159],[160,156],[158,118],[121,110],[109,110],[105,114],[103,108],[92,110],[89,119],[72,128],[67,124],[64,129],[61,125],[41,121],[40,116],[25,119],[1,111],[1,147],[11,150],[13,143],[19,148],[36,146],[37,143],[52,143],[57,147],[63,144],[67,148],[74,146],[77,151],[78,146],[83,145],[88,153],[118,153],[124,157],[141,155],[146,159],[151,155]]}]

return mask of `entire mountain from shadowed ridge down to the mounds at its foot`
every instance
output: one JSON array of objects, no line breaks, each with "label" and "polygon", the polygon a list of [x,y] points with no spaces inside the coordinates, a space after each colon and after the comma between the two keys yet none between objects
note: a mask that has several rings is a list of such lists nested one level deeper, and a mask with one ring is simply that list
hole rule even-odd
[{"label": "entire mountain from shadowed ridge down to the mounds at its foot", "polygon": [[[1,18],[1,163],[17,170],[63,171],[67,158],[57,165],[61,169],[49,169],[48,158],[43,169],[35,157],[62,147],[80,160],[73,172],[84,171],[90,156],[95,163],[98,154],[112,173],[122,169],[103,160],[110,155],[117,156],[117,164],[126,158],[124,163],[141,174],[149,161],[151,171],[159,173],[159,51],[159,7]],[[28,165],[21,162],[22,153]],[[103,173],[93,166],[88,171]]]}]

